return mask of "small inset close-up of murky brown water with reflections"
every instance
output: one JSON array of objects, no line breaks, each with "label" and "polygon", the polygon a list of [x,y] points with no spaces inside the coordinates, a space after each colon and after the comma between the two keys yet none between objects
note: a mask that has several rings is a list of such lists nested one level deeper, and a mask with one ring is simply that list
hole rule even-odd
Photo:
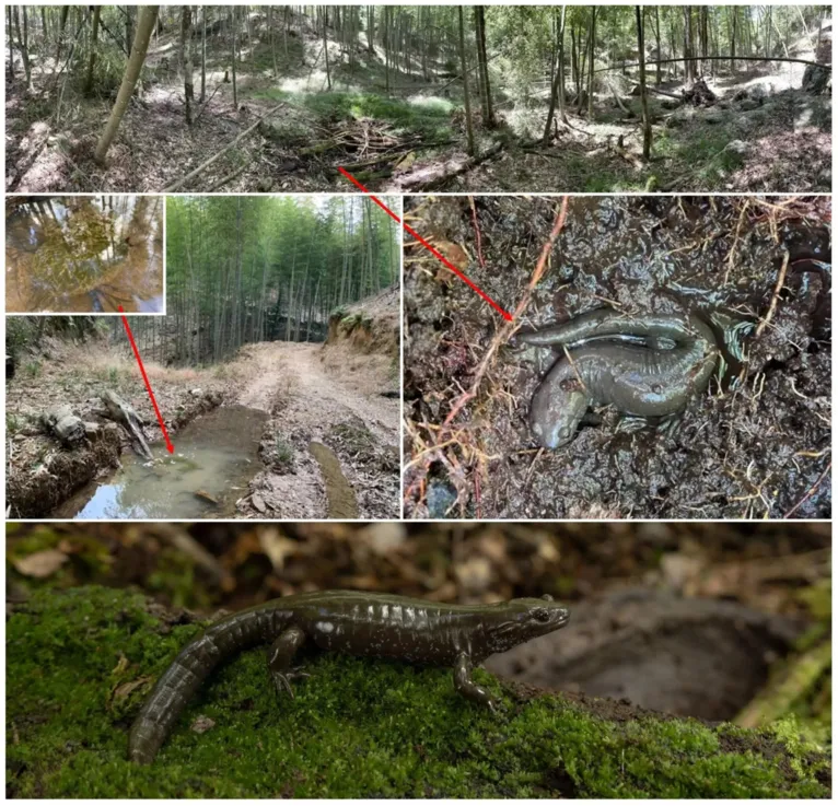
[{"label": "small inset close-up of murky brown water with reflections", "polygon": [[8,207],[5,309],[163,311],[163,201],[30,197]]}]

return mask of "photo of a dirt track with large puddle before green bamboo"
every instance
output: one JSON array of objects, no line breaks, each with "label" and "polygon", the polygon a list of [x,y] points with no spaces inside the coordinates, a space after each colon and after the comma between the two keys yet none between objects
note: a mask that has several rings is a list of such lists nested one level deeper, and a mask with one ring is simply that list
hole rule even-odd
[{"label": "photo of a dirt track with large puddle before green bamboo", "polygon": [[395,221],[360,196],[166,219],[166,316],[8,319],[8,516],[398,516]]}]

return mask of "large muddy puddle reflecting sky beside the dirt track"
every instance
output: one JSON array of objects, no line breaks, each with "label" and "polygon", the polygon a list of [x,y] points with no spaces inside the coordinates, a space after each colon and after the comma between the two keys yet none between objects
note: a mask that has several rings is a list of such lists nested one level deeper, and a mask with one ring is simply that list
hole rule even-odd
[{"label": "large muddy puddle reflecting sky beside the dirt track", "polygon": [[123,468],[83,488],[54,513],[73,518],[217,518],[261,468],[258,457],[267,413],[241,406],[216,409],[173,439],[175,453],[152,445],[153,462],[123,454]]}]

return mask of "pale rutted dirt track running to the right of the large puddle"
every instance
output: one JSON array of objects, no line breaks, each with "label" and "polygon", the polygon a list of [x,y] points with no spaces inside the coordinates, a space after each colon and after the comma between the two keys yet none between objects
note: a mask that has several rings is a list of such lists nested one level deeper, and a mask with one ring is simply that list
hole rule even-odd
[{"label": "pale rutted dirt track running to the right of the large puddle", "polygon": [[381,396],[385,385],[372,365],[327,365],[329,349],[281,341],[247,349],[252,379],[236,402],[272,416],[263,440],[268,469],[241,504],[251,516],[330,515],[329,488],[342,480],[324,479],[313,441],[335,453],[359,499],[360,517],[398,515],[398,400]]}]

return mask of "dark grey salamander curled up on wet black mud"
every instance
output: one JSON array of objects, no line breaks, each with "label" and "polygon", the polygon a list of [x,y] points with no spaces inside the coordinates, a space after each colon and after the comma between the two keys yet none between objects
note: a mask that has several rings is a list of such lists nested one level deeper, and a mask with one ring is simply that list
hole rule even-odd
[{"label": "dark grey salamander curled up on wet black mud", "polygon": [[[719,355],[713,331],[695,314],[631,317],[600,308],[517,340],[562,348],[529,408],[532,432],[550,449],[573,439],[594,405],[638,417],[678,411],[707,387]],[[674,346],[663,349],[666,342]]]}]

